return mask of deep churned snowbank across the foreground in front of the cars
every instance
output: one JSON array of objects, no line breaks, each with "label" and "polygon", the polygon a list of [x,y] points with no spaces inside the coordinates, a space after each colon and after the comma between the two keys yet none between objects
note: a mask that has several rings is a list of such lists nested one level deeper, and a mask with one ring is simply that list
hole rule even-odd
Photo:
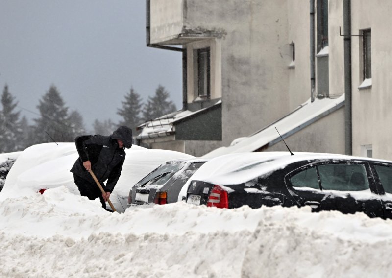
[{"label": "deep churned snowbank across the foreground in front of the cars", "polygon": [[[39,162],[71,168],[74,160],[60,153],[30,150],[30,165],[18,163],[22,153],[7,177],[0,277],[374,278],[392,271],[392,222],[361,213],[184,202],[110,213],[44,170],[29,189],[26,171]],[[49,188],[43,195],[34,191],[40,183]]]}]

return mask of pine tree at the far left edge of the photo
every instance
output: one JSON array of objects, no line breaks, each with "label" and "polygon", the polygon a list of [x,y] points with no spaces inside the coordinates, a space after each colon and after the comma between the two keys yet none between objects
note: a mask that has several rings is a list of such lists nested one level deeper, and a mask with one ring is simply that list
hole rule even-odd
[{"label": "pine tree at the far left edge of the photo", "polygon": [[8,85],[4,86],[1,95],[2,110],[0,111],[0,153],[21,150],[21,129],[19,124],[20,111],[15,112],[18,102],[8,91]]}]

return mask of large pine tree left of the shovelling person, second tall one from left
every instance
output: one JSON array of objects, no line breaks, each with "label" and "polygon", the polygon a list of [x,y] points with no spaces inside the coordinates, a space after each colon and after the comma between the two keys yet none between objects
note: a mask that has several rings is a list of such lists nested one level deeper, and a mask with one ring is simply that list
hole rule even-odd
[{"label": "large pine tree left of the shovelling person, second tall one from left", "polygon": [[[41,117],[34,119],[34,143],[73,142],[74,136],[68,117],[68,107],[65,106],[57,88],[52,85],[42,97],[37,106]],[[51,137],[51,138],[50,138]]]}]

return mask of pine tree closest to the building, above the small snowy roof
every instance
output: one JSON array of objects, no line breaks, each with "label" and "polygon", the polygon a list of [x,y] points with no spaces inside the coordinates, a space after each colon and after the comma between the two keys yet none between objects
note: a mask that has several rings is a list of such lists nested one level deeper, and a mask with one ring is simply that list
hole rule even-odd
[{"label": "pine tree closest to the building, above the small snowy roof", "polygon": [[143,108],[145,121],[172,113],[177,110],[175,104],[169,99],[169,92],[165,87],[159,85],[153,97],[149,96]]}]

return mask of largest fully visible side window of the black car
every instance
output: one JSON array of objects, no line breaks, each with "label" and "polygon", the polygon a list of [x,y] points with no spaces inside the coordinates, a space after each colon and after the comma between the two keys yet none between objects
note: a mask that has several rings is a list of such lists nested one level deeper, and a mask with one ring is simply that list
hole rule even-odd
[{"label": "largest fully visible side window of the black car", "polygon": [[318,166],[323,190],[361,191],[369,189],[368,175],[362,164],[326,164]]}]

